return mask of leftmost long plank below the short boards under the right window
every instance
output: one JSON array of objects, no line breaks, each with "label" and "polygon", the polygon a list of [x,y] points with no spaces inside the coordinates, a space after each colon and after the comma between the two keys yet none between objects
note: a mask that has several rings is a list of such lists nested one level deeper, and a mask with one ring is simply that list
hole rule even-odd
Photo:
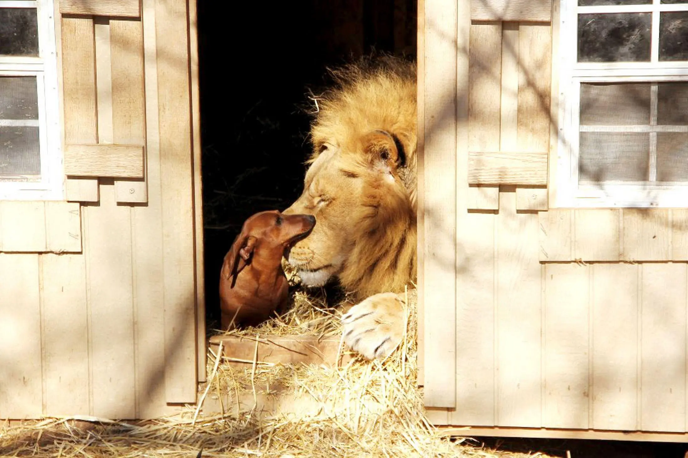
[{"label": "leftmost long plank below the short boards under the right window", "polygon": [[588,429],[589,268],[545,265],[545,399],[542,426]]}]

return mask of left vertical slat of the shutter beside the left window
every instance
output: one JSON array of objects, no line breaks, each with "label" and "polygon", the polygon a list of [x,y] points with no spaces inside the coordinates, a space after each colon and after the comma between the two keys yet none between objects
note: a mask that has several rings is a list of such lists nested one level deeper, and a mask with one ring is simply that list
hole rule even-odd
[{"label": "left vertical slat of the shutter beside the left window", "polygon": [[[61,21],[65,143],[98,142],[94,24],[90,18]],[[98,179],[67,179],[69,201],[97,201]]]}]

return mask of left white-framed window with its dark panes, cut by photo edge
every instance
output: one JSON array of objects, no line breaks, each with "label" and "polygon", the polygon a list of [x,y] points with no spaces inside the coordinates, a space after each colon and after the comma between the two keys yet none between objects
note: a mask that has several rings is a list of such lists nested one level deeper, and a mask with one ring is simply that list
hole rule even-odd
[{"label": "left white-framed window with its dark panes, cut by photo edge", "polygon": [[0,0],[0,199],[62,199],[52,0]]}]

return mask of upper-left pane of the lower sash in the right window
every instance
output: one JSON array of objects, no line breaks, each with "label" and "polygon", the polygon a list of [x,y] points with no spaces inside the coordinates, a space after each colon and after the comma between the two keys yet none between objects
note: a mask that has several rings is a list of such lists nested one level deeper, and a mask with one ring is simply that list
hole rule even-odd
[{"label": "upper-left pane of the lower sash in the right window", "polygon": [[581,83],[582,125],[649,124],[648,83]]}]

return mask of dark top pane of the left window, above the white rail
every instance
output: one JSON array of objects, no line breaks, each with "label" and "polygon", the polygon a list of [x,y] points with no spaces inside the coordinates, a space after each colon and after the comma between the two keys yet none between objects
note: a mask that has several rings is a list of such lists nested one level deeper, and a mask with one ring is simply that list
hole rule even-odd
[{"label": "dark top pane of the left window, above the white rail", "polygon": [[38,56],[36,8],[0,8],[0,55]]}]

